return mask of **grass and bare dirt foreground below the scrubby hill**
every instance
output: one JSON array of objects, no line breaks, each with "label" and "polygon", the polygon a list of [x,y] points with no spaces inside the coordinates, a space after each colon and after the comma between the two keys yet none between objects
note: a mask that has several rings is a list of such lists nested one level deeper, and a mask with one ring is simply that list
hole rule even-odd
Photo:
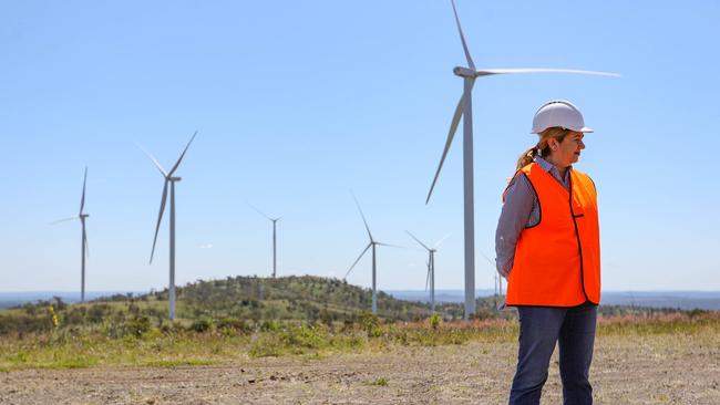
[{"label": "grass and bare dirt foreground below the scrubby hill", "polygon": [[[435,320],[438,321],[438,320]],[[720,403],[720,316],[600,316],[597,404]],[[0,403],[502,404],[516,320],[100,329],[0,339]],[[543,403],[562,402],[557,351]]]}]

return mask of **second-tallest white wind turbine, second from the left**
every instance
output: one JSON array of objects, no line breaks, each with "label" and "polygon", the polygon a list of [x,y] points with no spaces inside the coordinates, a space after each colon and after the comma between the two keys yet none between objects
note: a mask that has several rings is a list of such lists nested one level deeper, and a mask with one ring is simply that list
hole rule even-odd
[{"label": "second-tallest white wind turbine, second from the left", "polygon": [[193,139],[195,139],[195,136],[197,135],[197,131],[193,134],[193,137],[191,137],[191,141],[187,143],[187,146],[185,146],[185,149],[183,150],[183,154],[179,156],[173,168],[171,168],[169,172],[165,172],[163,166],[161,166],[160,163],[151,155],[150,153],[145,152],[147,157],[153,160],[155,166],[157,166],[157,169],[160,173],[163,175],[165,178],[165,186],[163,186],[163,198],[160,201],[160,212],[157,214],[157,225],[155,226],[155,238],[153,239],[153,250],[150,253],[150,263],[153,263],[153,257],[155,255],[155,243],[157,242],[157,232],[160,231],[160,224],[163,221],[163,214],[165,212],[165,202],[167,202],[167,186],[169,185],[169,319],[171,321],[175,319],[175,183],[179,181],[182,178],[181,177],[175,177],[173,176],[175,174],[175,170],[177,170],[177,167],[179,166],[181,162],[183,162],[183,157],[185,157],[185,153],[187,149],[191,147],[191,144],[193,143]]}]

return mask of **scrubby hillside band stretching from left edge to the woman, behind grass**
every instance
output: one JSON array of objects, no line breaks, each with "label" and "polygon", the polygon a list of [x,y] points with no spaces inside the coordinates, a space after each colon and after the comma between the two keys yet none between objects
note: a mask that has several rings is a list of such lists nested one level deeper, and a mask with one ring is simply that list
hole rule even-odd
[{"label": "scrubby hillside band stretching from left edge to the woman, behind grass", "polygon": [[[147,294],[115,294],[68,304],[60,298],[0,310],[0,334],[47,332],[60,328],[100,326],[110,335],[167,322],[167,290]],[[494,315],[492,300],[480,299],[479,316]],[[232,322],[259,325],[269,321],[354,323],[371,309],[369,289],[312,276],[228,277],[198,280],[177,288],[176,323]],[[436,305],[445,320],[460,319],[456,303]],[[431,315],[430,305],[378,292],[378,315],[385,321],[416,321]],[[54,320],[53,320],[54,316]],[[137,324],[136,322],[141,322]]]}]

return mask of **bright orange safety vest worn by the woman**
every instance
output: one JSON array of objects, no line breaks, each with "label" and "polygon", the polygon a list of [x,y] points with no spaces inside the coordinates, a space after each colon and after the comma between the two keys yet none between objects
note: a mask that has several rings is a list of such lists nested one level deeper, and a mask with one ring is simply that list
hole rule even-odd
[{"label": "bright orange safety vest worn by the woman", "polygon": [[590,177],[570,170],[565,189],[536,163],[520,169],[537,196],[539,222],[526,227],[507,279],[507,305],[575,307],[600,302],[600,232]]}]

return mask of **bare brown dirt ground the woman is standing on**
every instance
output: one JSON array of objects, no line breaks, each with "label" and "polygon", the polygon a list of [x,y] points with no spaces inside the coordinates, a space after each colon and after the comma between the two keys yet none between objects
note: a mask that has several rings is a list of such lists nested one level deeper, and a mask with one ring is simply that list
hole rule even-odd
[{"label": "bare brown dirt ground the woman is standing on", "polygon": [[[1,404],[503,404],[516,343],[393,347],[176,368],[0,373]],[[720,336],[599,336],[597,404],[720,404]],[[543,404],[560,404],[557,350]]]}]

